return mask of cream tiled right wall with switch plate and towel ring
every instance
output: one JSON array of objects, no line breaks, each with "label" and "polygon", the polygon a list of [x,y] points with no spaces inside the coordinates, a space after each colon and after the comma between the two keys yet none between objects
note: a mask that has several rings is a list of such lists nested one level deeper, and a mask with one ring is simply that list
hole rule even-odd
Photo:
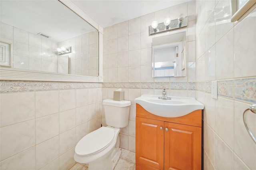
[{"label": "cream tiled right wall with switch plate and towel ring", "polygon": [[[230,22],[230,1],[196,0],[196,99],[204,103],[204,169],[255,170],[242,114],[256,103],[256,10]],[[218,80],[218,99],[211,81]],[[256,115],[248,113],[256,135]]]}]

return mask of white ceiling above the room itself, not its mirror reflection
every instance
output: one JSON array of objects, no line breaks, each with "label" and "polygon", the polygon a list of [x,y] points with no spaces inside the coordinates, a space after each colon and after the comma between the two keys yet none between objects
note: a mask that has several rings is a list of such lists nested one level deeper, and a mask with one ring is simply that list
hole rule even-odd
[{"label": "white ceiling above the room itself, not its mirror reflection", "polygon": [[71,0],[103,28],[189,0]]}]

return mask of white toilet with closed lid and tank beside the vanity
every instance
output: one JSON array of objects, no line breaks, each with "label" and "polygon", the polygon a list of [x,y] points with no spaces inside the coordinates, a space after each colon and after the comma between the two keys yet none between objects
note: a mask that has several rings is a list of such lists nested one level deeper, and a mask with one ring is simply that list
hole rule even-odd
[{"label": "white toilet with closed lid and tank beside the vanity", "polygon": [[106,125],[86,134],[75,148],[74,160],[89,164],[88,170],[113,170],[121,155],[120,128],[129,120],[130,101],[105,99],[102,102]]}]

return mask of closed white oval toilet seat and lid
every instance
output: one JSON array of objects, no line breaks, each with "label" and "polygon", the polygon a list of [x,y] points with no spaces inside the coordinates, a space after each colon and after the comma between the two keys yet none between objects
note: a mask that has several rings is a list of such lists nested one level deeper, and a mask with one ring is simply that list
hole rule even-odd
[{"label": "closed white oval toilet seat and lid", "polygon": [[101,127],[84,136],[75,148],[79,156],[90,156],[108,147],[114,140],[114,129]]}]

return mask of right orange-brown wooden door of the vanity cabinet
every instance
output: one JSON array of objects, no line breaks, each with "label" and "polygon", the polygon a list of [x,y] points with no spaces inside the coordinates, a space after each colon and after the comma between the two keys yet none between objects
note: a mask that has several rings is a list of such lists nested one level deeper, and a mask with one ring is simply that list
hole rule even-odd
[{"label": "right orange-brown wooden door of the vanity cabinet", "polygon": [[201,170],[201,131],[164,122],[164,170]]}]

